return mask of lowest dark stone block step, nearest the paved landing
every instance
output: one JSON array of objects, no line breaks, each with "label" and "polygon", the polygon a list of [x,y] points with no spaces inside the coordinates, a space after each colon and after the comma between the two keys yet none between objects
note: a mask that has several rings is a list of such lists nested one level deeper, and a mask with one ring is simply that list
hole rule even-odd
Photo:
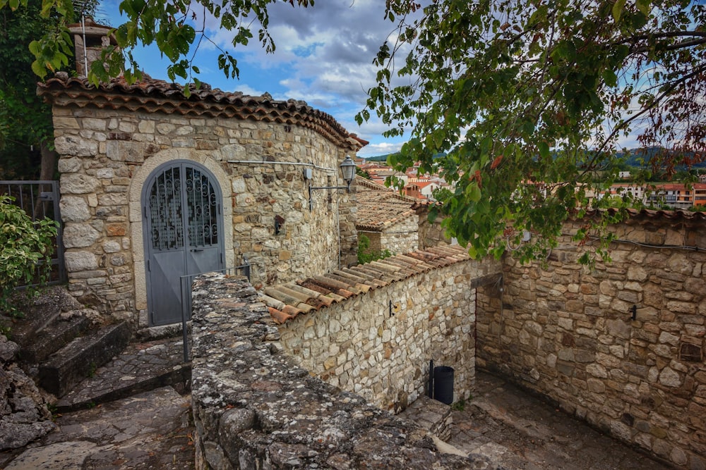
[{"label": "lowest dark stone block step, nearest the paved landing", "polygon": [[124,350],[130,336],[130,326],[122,322],[76,338],[52,354],[47,362],[40,364],[40,387],[63,397],[74,385],[94,374],[98,367]]}]

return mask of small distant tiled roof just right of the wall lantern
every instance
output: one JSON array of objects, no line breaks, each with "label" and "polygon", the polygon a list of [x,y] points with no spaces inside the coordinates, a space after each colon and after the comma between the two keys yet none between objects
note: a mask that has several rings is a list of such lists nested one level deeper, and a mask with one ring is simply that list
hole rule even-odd
[{"label": "small distant tiled roof just right of the wall lantern", "polygon": [[358,211],[355,225],[358,229],[382,231],[416,214],[416,199],[364,178],[356,180],[356,199]]}]

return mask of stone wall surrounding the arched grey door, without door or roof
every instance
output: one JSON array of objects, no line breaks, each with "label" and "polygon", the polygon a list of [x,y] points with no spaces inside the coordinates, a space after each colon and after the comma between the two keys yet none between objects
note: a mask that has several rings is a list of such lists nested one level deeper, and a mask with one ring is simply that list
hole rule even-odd
[{"label": "stone wall surrounding the arched grey door, without door or roof", "polygon": [[[184,159],[211,171],[223,194],[225,265],[253,264],[253,283],[285,282],[356,259],[354,187],[340,185],[345,150],[298,125],[189,118],[159,111],[54,104],[69,290],[121,319],[147,322],[143,203],[150,173]],[[232,163],[229,163],[232,161]],[[275,163],[282,162],[282,163]],[[313,173],[304,179],[304,165]],[[275,218],[284,219],[275,233]]]}]

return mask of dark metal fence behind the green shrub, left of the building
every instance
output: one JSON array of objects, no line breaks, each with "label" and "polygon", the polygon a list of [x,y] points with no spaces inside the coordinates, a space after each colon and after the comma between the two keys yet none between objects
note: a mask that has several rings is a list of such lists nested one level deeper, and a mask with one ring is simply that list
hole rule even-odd
[{"label": "dark metal fence behind the green shrub, left of the building", "polygon": [[[59,182],[58,181],[0,181],[0,195],[13,198],[14,204],[20,206],[33,221],[50,218],[59,222],[53,245],[54,251],[49,281],[46,284],[60,284],[66,282],[66,267],[64,266],[64,243],[61,241],[63,228],[61,225],[61,212],[59,211]],[[44,264],[44,261],[40,261]],[[39,266],[37,266],[37,281],[39,279]],[[28,284],[20,287],[29,287]]]}]

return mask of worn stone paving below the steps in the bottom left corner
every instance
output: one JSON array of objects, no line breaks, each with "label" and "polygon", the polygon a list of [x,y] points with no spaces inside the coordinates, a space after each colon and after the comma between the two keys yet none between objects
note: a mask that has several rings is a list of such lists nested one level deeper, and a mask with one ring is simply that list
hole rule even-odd
[{"label": "worn stone paving below the steps in the bottom left corner", "polygon": [[193,469],[190,406],[164,387],[59,416],[5,470]]}]

